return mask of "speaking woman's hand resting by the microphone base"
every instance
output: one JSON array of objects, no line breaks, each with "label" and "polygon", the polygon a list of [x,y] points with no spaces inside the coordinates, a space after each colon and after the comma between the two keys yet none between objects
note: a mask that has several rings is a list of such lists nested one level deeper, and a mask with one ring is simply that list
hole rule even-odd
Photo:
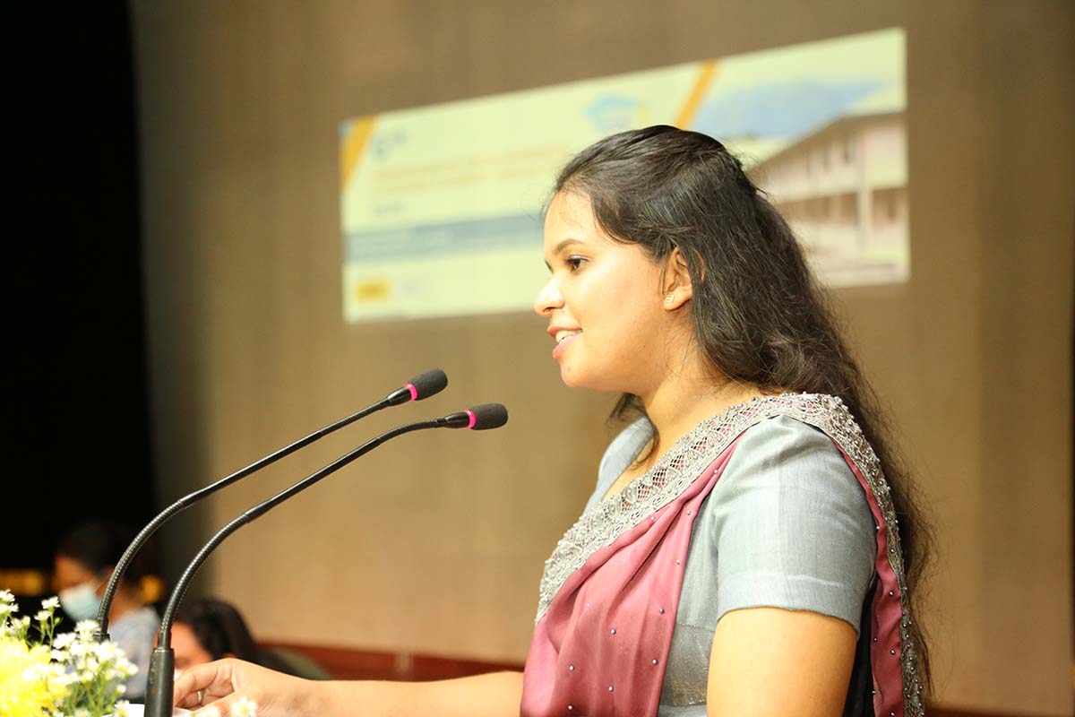
[{"label": "speaking woman's hand resting by the microphone base", "polygon": [[315,683],[273,672],[250,662],[225,659],[183,671],[175,680],[173,704],[198,709],[214,704],[221,715],[242,698],[258,705],[258,717],[315,715]]}]

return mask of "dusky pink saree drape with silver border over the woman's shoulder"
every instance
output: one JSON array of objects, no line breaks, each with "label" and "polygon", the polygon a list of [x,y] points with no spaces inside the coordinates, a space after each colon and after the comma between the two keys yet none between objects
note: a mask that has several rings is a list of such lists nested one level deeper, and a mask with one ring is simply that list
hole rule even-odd
[{"label": "dusky pink saree drape with silver border over the woman's shoulder", "polygon": [[895,516],[877,459],[838,399],[784,395],[703,422],[565,533],[542,580],[524,676],[525,717],[657,714],[691,526],[739,436],[777,415],[822,430],[865,491],[877,525],[874,713],[923,714]]}]

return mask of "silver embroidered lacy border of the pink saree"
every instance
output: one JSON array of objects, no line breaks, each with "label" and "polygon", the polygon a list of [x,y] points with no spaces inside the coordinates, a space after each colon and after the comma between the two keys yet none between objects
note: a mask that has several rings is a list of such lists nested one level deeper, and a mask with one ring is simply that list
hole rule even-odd
[{"label": "silver embroidered lacy border of the pink saree", "polygon": [[836,442],[862,473],[885,517],[888,560],[900,587],[901,669],[903,673],[904,714],[922,717],[922,688],[918,678],[918,654],[911,634],[911,605],[903,574],[903,553],[892,497],[880,470],[880,462],[862,435],[862,430],[840,398],[818,393],[782,393],[734,405],[708,418],[676,441],[644,475],[624,490],[601,501],[583,514],[556,544],[545,561],[534,622],[548,612],[553,598],[568,577],[586,559],[612,545],[619,535],[650,514],[672,502],[699,472],[731,445],[743,431],[775,416],[790,416],[823,431]]}]

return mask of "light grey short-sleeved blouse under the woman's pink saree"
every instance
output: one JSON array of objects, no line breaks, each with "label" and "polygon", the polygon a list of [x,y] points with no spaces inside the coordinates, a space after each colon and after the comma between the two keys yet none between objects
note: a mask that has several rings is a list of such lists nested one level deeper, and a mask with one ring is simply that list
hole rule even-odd
[{"label": "light grey short-sleeved blouse under the woman's pink saree", "polygon": [[[610,444],[587,511],[651,435],[642,418]],[[865,493],[823,432],[787,415],[747,429],[691,530],[658,714],[705,715],[713,634],[730,611],[812,611],[847,621],[863,641],[874,533]]]}]

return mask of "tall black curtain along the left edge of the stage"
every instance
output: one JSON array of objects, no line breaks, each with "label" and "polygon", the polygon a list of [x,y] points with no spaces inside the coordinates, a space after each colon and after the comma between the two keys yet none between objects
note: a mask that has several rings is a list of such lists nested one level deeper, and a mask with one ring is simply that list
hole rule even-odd
[{"label": "tall black curtain along the left edge of the stage", "polygon": [[155,504],[134,67],[124,3],[9,17],[0,570],[47,570],[74,524]]}]

